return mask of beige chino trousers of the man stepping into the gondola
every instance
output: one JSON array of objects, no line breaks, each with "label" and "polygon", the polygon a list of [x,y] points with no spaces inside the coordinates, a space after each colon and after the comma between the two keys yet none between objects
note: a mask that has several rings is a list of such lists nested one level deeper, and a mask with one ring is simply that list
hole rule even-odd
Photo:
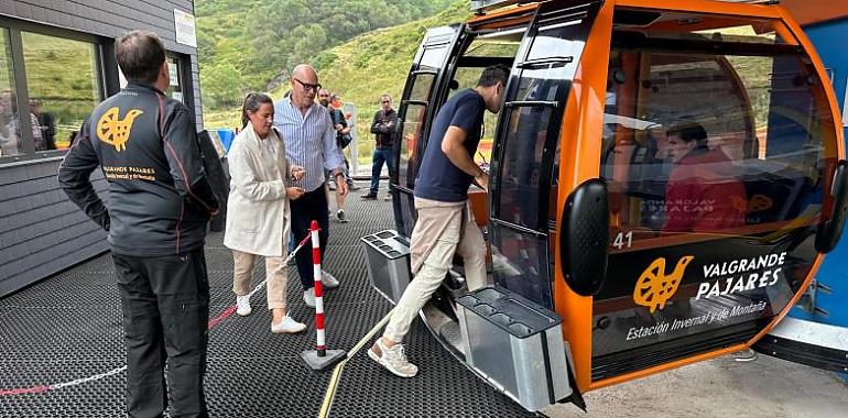
[{"label": "beige chino trousers of the man stepping into the gondola", "polygon": [[[442,284],[454,260],[463,256],[468,290],[486,285],[486,243],[468,201],[443,202],[415,198],[418,220],[412,230],[413,268],[421,265],[392,310],[383,337],[401,342],[424,304]],[[423,262],[415,260],[423,257]]]}]

